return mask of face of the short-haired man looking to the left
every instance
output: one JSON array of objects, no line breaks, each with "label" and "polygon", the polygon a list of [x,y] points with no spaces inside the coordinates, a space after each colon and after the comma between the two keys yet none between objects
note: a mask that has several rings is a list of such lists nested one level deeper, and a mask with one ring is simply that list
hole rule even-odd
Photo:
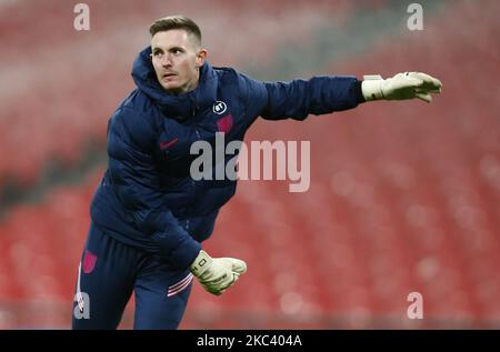
[{"label": "face of the short-haired man looking to the left", "polygon": [[156,33],[151,38],[152,64],[161,87],[170,93],[184,93],[198,87],[199,68],[207,50],[182,29]]}]

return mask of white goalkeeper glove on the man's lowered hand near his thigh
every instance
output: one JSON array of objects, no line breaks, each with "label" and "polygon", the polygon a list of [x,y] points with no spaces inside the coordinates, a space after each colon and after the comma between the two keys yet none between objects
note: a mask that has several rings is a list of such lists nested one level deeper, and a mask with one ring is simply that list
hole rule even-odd
[{"label": "white goalkeeper glove on the man's lowered hand near his thigh", "polygon": [[234,258],[211,258],[200,251],[191,264],[191,272],[210,293],[220,295],[247,271],[247,264]]}]

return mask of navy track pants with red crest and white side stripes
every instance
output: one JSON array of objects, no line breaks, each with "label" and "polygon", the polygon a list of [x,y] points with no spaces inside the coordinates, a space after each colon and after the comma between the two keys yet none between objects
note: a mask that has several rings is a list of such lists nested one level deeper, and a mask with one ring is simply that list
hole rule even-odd
[{"label": "navy track pants with red crest and white side stripes", "polygon": [[193,276],[91,224],[78,270],[72,329],[117,329],[136,294],[134,329],[177,329]]}]

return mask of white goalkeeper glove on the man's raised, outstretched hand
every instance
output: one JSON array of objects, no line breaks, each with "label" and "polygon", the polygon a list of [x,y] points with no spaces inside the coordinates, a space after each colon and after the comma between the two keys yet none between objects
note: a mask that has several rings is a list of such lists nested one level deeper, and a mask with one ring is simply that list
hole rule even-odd
[{"label": "white goalkeeper glove on the man's raised, outstretched hand", "polygon": [[364,76],[361,83],[366,101],[418,98],[431,102],[431,93],[440,93],[441,88],[440,80],[421,72],[398,73],[386,80],[380,76]]}]

